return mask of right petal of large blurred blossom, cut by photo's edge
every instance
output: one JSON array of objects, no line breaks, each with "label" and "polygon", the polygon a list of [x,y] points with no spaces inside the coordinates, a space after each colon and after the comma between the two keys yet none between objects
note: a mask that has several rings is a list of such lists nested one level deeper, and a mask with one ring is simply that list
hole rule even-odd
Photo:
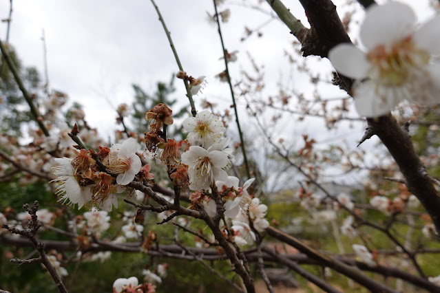
[{"label": "right petal of large blurred blossom, cut by photo's edge", "polygon": [[418,48],[426,50],[433,55],[440,55],[440,15],[423,23],[414,34],[414,42]]}]

